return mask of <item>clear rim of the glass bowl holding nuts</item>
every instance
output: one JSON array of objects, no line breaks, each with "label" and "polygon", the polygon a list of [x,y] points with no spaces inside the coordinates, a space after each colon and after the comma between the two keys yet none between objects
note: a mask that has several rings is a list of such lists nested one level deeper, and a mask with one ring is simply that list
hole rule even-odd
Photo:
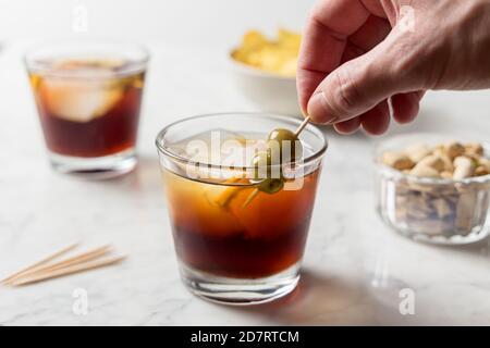
[{"label": "clear rim of the glass bowl holding nuts", "polygon": [[[404,178],[411,181],[411,183],[415,184],[422,184],[422,185],[450,185],[450,184],[487,184],[490,182],[490,174],[481,175],[481,176],[473,176],[473,177],[466,177],[462,179],[454,179],[454,178],[443,178],[443,177],[420,177],[415,176],[412,174],[403,173],[399,170],[395,170],[394,167],[391,167],[381,161],[381,150],[383,146],[385,146],[389,142],[402,140],[402,139],[408,139],[411,137],[438,137],[438,138],[450,138],[450,135],[443,134],[443,133],[430,133],[430,132],[422,132],[422,133],[408,133],[408,134],[399,134],[391,136],[387,139],[383,139],[379,141],[375,147],[375,156],[373,156],[373,162],[378,169],[379,172],[387,172],[394,178]],[[490,152],[490,142],[488,141],[478,141],[483,147],[485,151]]]}]

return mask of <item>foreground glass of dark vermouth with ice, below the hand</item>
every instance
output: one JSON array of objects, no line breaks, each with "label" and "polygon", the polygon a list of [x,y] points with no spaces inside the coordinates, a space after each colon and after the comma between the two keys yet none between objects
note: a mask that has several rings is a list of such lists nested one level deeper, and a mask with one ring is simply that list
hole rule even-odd
[{"label": "foreground glass of dark vermouth with ice, below the hand", "polygon": [[[176,256],[194,294],[250,304],[296,287],[328,145],[313,125],[283,147],[273,147],[269,133],[299,124],[273,114],[224,113],[159,133]],[[285,142],[295,144],[287,150]],[[275,154],[280,160],[271,161]]]}]

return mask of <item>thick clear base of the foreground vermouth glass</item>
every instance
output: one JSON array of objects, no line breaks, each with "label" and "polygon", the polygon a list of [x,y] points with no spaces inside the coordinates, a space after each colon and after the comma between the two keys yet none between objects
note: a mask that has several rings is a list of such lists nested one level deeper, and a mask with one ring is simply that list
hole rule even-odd
[{"label": "thick clear base of the foreground vermouth glass", "polygon": [[299,281],[299,263],[264,278],[216,276],[184,265],[181,275],[187,288],[205,300],[249,306],[270,302],[293,291]]}]

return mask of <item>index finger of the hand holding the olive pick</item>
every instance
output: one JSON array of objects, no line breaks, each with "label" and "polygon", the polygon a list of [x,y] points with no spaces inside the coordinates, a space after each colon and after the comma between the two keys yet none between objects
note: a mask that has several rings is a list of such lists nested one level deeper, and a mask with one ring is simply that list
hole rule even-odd
[{"label": "index finger of the hand holding the olive pick", "polygon": [[347,37],[368,20],[380,15],[379,2],[371,0],[322,0],[308,20],[297,69],[299,104],[306,111],[308,100],[321,80],[342,60]]}]

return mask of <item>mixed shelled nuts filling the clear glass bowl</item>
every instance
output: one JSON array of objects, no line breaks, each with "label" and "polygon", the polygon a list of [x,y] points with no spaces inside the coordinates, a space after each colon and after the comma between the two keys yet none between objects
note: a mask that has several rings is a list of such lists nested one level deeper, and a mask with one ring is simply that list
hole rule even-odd
[{"label": "mixed shelled nuts filling the clear glass bowl", "polygon": [[449,141],[433,147],[417,144],[402,151],[387,151],[381,161],[407,174],[402,177],[387,174],[381,181],[383,216],[399,229],[452,237],[478,233],[483,227],[490,201],[489,184],[463,181],[490,174],[490,160],[485,157],[481,144]]}]

